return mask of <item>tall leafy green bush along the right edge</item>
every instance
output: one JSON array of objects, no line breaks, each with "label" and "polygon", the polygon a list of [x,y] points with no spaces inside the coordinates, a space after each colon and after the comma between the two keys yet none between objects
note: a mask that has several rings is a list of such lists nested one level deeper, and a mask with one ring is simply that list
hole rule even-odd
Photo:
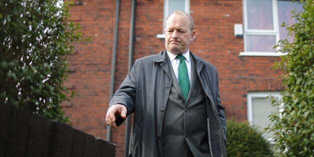
[{"label": "tall leafy green bush along the right edge", "polygon": [[275,134],[274,142],[281,156],[314,155],[314,3],[313,0],[300,0],[304,11],[294,13],[297,23],[282,24],[288,34],[294,36],[289,43],[279,41],[275,47],[286,55],[273,64],[274,69],[283,70],[281,75],[285,89],[281,99],[274,105],[282,105],[281,117],[270,115],[274,125],[268,131]]}]

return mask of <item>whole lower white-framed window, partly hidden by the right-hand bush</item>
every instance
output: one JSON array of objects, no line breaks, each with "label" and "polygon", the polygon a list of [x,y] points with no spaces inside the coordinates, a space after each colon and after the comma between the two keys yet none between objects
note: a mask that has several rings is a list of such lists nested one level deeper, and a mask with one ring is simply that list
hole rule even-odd
[{"label": "whole lower white-framed window, partly hidden by the right-hand bush", "polygon": [[278,113],[280,106],[272,106],[271,101],[266,96],[273,95],[275,99],[280,99],[279,92],[251,92],[247,94],[247,121],[256,126],[262,135],[269,141],[272,141],[272,134],[264,130],[268,124],[271,112]]}]

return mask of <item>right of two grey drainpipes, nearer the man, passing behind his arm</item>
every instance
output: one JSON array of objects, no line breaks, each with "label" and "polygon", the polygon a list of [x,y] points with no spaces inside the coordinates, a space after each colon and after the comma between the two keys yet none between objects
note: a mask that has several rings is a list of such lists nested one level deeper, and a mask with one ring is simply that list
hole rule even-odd
[{"label": "right of two grey drainpipes, nearer the man, passing behind his arm", "polygon": [[[133,66],[133,56],[134,56],[134,29],[135,29],[135,7],[136,0],[131,2],[131,17],[130,17],[130,29],[129,29],[129,39],[128,39],[128,69],[129,72]],[[130,128],[131,119],[130,116],[127,116],[125,121],[125,131],[124,131],[124,156],[128,156],[128,145],[129,145],[129,128]]]}]

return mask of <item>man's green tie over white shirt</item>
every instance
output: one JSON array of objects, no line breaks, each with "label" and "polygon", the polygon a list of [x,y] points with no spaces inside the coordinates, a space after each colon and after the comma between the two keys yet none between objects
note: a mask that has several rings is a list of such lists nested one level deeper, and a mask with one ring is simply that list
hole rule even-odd
[{"label": "man's green tie over white shirt", "polygon": [[189,78],[187,73],[187,67],[184,60],[184,56],[182,54],[179,54],[176,56],[179,60],[179,67],[178,67],[178,74],[179,74],[179,85],[183,93],[183,97],[186,101],[188,91],[189,91]]}]

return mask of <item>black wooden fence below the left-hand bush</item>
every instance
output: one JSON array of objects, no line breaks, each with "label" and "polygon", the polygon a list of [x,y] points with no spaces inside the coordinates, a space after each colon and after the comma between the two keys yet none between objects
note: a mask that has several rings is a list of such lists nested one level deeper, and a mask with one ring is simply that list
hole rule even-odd
[{"label": "black wooden fence below the left-hand bush", "polygon": [[28,110],[0,104],[0,157],[100,157],[115,155],[115,145],[68,124]]}]

